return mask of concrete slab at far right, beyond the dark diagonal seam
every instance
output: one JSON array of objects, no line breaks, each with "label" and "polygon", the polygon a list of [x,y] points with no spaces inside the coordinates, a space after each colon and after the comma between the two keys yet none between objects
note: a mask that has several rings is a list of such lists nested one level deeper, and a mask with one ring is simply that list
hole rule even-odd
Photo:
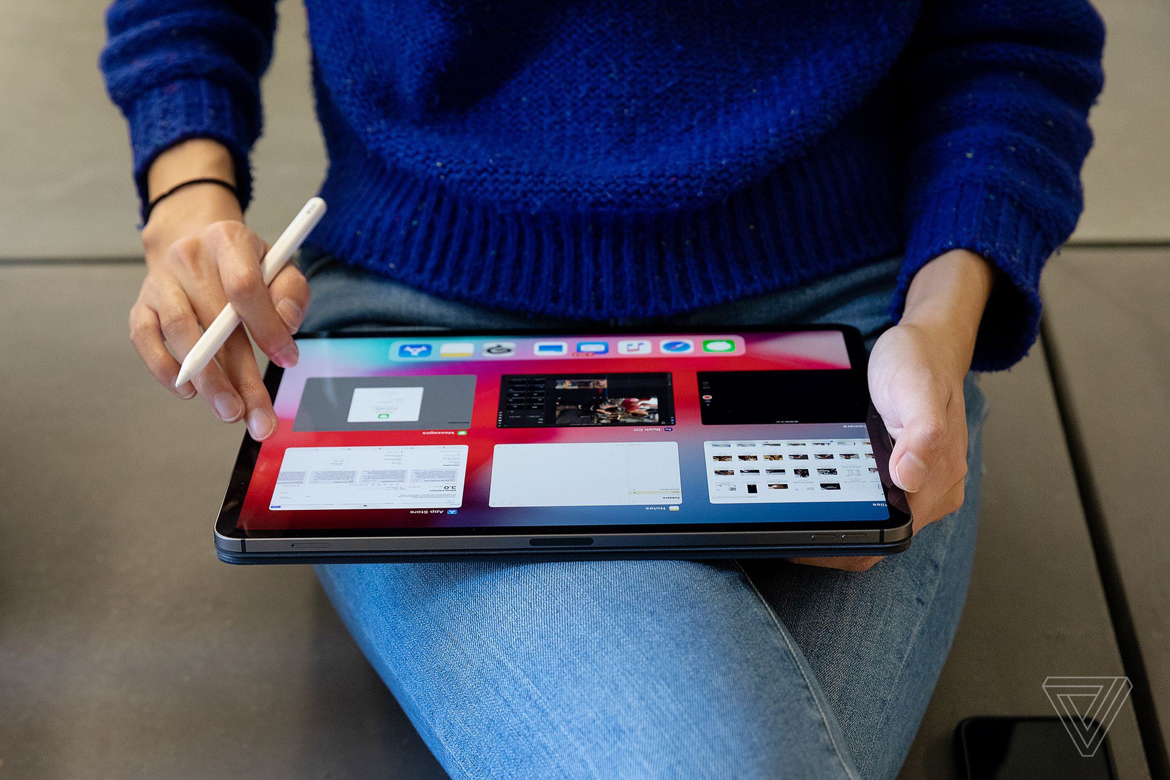
[{"label": "concrete slab at far right, beyond the dark diagonal seam", "polygon": [[1046,334],[1147,747],[1170,776],[1170,244],[1066,249]]}]

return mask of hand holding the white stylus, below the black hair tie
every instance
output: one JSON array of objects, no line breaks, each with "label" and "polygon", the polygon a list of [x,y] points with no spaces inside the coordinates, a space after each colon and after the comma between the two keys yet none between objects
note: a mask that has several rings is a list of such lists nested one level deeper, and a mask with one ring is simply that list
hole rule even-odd
[{"label": "hand holding the white stylus, below the black hair tie", "polygon": [[130,309],[130,340],[146,367],[179,398],[198,393],[223,422],[247,420],[254,439],[267,439],[276,414],[242,327],[191,381],[176,387],[174,380],[228,302],[273,363],[296,365],[292,333],[309,305],[304,276],[289,264],[264,285],[260,262],[268,244],[245,226],[235,196],[214,184],[184,187],[158,203],[143,228],[143,247],[146,279]]}]

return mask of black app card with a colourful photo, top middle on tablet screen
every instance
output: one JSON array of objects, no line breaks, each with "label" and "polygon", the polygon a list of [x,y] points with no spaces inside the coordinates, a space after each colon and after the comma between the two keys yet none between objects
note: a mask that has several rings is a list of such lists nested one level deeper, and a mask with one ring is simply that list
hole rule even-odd
[{"label": "black app card with a colourful photo, top middle on tablet screen", "polygon": [[674,424],[669,373],[505,374],[500,428]]}]

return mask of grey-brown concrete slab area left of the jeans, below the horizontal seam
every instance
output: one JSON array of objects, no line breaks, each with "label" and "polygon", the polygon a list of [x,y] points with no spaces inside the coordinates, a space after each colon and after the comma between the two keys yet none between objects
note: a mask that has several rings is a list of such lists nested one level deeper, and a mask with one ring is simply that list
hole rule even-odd
[{"label": "grey-brown concrete slab area left of the jeans, below the horizontal seam", "polygon": [[310,567],[216,560],[242,430],[143,375],[139,283],[0,267],[0,778],[443,776]]}]

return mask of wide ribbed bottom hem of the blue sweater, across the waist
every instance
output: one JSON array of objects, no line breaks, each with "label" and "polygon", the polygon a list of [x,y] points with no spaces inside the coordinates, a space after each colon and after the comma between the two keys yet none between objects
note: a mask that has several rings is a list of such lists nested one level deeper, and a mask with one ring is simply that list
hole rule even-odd
[{"label": "wide ribbed bottom hem of the blue sweater, across the waist", "polygon": [[[526,213],[333,150],[309,247],[433,295],[589,320],[665,317],[901,251],[893,165],[837,146],[693,212]],[[338,153],[340,152],[340,153]]]}]

